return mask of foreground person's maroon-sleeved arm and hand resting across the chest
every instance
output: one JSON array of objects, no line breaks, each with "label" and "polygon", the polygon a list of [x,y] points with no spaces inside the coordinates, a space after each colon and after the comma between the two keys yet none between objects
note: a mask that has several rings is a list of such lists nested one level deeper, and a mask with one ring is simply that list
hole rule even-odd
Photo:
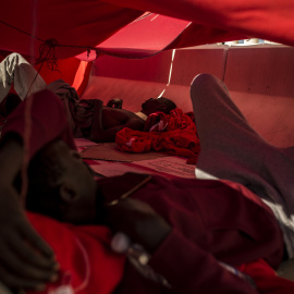
[{"label": "foreground person's maroon-sleeved arm and hand resting across the chest", "polygon": [[247,281],[172,229],[149,205],[126,198],[109,207],[108,213],[111,229],[143,245],[151,254],[148,265],[167,279],[175,293],[257,294]]}]

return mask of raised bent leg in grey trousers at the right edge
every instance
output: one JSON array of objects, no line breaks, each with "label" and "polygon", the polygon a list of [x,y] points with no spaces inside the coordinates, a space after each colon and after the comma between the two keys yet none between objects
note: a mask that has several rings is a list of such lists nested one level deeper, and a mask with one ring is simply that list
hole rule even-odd
[{"label": "raised bent leg in grey trousers at the right edge", "polygon": [[[201,147],[196,176],[224,179],[247,186],[272,208],[293,243],[294,157],[291,149],[265,142],[217,77],[196,76],[191,97]],[[293,245],[287,244],[291,256],[294,256]]]}]

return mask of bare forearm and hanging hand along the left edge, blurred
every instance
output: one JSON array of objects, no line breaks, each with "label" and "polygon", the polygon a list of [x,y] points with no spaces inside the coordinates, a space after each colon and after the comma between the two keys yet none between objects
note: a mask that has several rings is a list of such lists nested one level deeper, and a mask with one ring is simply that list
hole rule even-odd
[{"label": "bare forearm and hanging hand along the left edge, blurred", "polygon": [[28,222],[13,186],[23,162],[23,145],[16,136],[0,147],[0,277],[11,289],[41,290],[57,278],[52,249]]}]

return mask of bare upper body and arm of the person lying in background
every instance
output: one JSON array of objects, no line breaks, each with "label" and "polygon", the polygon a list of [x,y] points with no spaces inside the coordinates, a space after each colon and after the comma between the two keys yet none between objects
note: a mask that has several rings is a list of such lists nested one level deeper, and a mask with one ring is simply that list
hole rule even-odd
[{"label": "bare upper body and arm of the person lying in background", "polygon": [[124,127],[143,131],[145,122],[135,113],[115,108],[105,108],[97,100],[93,114],[89,139],[93,142],[115,142],[115,135]]}]

